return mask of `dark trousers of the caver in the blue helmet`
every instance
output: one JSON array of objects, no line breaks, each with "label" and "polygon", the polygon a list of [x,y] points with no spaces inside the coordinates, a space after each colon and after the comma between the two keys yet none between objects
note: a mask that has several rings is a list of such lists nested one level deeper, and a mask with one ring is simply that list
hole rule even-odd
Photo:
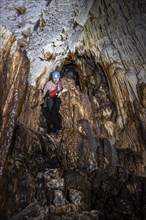
[{"label": "dark trousers of the caver in the blue helmet", "polygon": [[57,96],[47,97],[46,100],[47,107],[49,109],[50,121],[53,125],[52,130],[60,130],[61,129],[61,115],[59,113],[59,108],[61,104],[60,98]]}]

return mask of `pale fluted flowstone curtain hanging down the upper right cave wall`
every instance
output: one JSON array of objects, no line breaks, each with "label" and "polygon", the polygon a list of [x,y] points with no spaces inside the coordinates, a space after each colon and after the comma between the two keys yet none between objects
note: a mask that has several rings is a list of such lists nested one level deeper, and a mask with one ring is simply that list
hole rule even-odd
[{"label": "pale fluted flowstone curtain hanging down the upper right cave wall", "polygon": [[[132,1],[101,4],[99,1],[102,10],[97,11],[97,17],[91,17],[85,25],[84,42],[88,42],[85,47],[98,57],[104,69],[117,106],[116,122],[121,128],[135,117],[136,102],[141,104],[141,109],[145,108],[144,96],[140,95],[146,82],[143,4],[132,4]],[[142,90],[144,94],[145,89]]]}]

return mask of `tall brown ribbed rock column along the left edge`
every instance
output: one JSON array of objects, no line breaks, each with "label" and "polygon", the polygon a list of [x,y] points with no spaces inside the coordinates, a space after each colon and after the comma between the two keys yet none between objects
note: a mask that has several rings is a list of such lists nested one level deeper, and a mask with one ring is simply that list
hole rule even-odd
[{"label": "tall brown ribbed rock column along the left edge", "polygon": [[12,143],[15,124],[27,90],[29,60],[12,32],[1,26],[0,120],[1,172]]}]

